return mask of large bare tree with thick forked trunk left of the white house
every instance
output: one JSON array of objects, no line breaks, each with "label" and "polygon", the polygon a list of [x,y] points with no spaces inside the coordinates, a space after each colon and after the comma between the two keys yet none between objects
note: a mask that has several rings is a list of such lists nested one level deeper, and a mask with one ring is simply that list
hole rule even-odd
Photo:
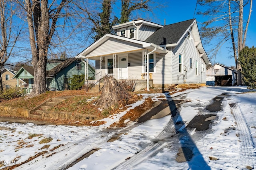
[{"label": "large bare tree with thick forked trunk left of the white house", "polygon": [[34,87],[30,97],[34,97],[46,92],[48,49],[62,44],[74,33],[79,23],[72,25],[70,22],[78,13],[77,9],[70,6],[73,0],[53,0],[51,3],[48,3],[48,0],[24,0],[24,4],[21,1],[17,2],[26,11],[34,66]]}]

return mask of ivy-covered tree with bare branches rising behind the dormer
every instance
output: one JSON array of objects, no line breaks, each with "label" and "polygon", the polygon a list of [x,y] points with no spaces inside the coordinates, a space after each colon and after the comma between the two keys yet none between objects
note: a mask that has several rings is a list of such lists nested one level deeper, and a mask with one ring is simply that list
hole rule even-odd
[{"label": "ivy-covered tree with bare branches rising behind the dormer", "polygon": [[[92,36],[94,41],[97,41],[106,33],[114,33],[112,30],[113,25],[125,23],[134,18],[138,19],[137,15],[133,15],[134,12],[152,12],[153,9],[160,7],[155,2],[152,5],[152,2],[152,0],[122,0],[121,7],[119,7],[116,6],[115,0],[103,0],[94,4],[94,10],[91,9],[92,6],[87,4],[84,4],[83,7],[78,6],[78,8],[83,10],[92,22]],[[115,12],[118,11],[116,9],[120,9],[120,18],[114,16],[113,8]]]}]

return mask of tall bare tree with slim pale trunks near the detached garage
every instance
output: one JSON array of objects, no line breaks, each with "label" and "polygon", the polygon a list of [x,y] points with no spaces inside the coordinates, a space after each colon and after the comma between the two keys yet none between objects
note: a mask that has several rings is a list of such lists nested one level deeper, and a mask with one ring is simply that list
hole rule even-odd
[{"label": "tall bare tree with slim pale trunks near the detached garage", "polygon": [[[245,47],[246,35],[250,16],[252,13],[252,0],[198,0],[198,4],[208,7],[204,12],[199,12],[208,16],[209,20],[202,24],[201,31],[203,40],[210,44],[216,41],[215,47],[210,51],[211,58],[215,58],[218,50],[227,41],[232,43],[232,51],[236,69],[238,71],[237,85],[242,84],[241,66],[238,62],[239,52]],[[244,9],[250,4],[248,18],[244,20]],[[205,9],[205,8],[204,8]],[[243,23],[246,22],[246,26]]]}]

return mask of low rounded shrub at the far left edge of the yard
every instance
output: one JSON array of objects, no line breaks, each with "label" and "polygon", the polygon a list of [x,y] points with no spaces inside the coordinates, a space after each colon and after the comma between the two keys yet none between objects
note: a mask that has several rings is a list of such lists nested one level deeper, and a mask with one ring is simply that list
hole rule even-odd
[{"label": "low rounded shrub at the far left edge of the yard", "polygon": [[21,88],[4,89],[0,92],[0,100],[10,100],[24,96]]}]

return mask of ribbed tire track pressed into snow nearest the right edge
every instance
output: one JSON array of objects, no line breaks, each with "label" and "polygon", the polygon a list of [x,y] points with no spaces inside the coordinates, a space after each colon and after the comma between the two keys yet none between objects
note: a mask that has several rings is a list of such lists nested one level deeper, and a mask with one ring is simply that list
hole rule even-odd
[{"label": "ribbed tire track pressed into snow nearest the right edge", "polygon": [[238,129],[237,131],[241,153],[240,162],[243,166],[250,166],[251,168],[254,168],[254,165],[256,164],[256,149],[251,136],[251,131],[237,103],[228,98],[228,104]]}]

